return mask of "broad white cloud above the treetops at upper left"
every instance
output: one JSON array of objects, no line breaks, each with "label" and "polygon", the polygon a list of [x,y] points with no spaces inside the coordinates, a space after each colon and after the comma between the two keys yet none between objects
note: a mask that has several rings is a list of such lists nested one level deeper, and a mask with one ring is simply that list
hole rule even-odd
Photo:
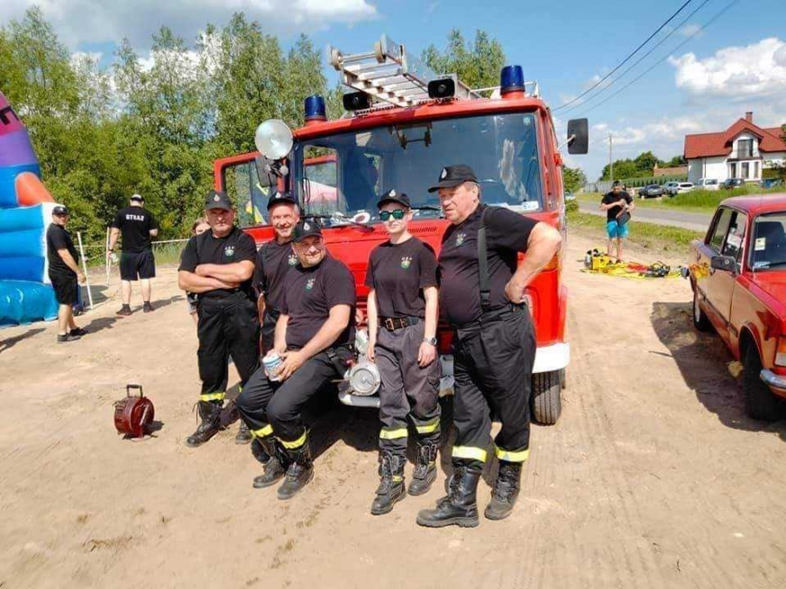
[{"label": "broad white cloud above the treetops at upper left", "polygon": [[370,0],[5,0],[0,24],[41,8],[69,47],[83,42],[120,41],[150,46],[151,34],[169,26],[187,40],[207,23],[222,24],[235,12],[258,20],[267,32],[313,32],[379,16]]}]

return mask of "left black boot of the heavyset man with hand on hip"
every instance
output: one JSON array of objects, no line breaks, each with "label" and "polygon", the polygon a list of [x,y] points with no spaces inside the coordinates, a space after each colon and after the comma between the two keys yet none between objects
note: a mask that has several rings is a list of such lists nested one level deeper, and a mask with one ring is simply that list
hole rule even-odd
[{"label": "left black boot of the heavyset man with hand on hip", "polygon": [[474,528],[478,518],[478,482],[480,469],[454,467],[451,490],[447,497],[436,502],[435,509],[424,509],[417,513],[417,523],[426,528],[442,528],[457,525]]}]

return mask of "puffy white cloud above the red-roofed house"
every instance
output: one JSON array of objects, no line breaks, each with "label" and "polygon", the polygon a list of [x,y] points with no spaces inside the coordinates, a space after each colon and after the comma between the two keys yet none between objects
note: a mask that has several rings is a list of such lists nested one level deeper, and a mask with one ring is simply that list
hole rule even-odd
[{"label": "puffy white cloud above the red-roofed house", "polygon": [[686,53],[669,61],[677,69],[677,87],[692,95],[742,101],[786,94],[786,43],[780,39],[727,47],[707,59]]}]

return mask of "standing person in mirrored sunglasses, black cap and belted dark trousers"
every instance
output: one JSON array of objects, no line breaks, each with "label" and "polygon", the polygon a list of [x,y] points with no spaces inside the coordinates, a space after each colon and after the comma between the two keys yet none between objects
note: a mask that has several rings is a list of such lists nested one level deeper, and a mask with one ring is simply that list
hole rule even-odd
[{"label": "standing person in mirrored sunglasses, black cap and belted dark trousers", "polygon": [[436,361],[436,257],[407,231],[409,197],[390,190],[379,200],[389,240],[371,251],[369,349],[382,379],[379,391],[379,488],[371,513],[388,513],[404,498],[407,418],[417,432],[417,458],[407,492],[425,494],[436,478],[440,439],[439,362]]}]

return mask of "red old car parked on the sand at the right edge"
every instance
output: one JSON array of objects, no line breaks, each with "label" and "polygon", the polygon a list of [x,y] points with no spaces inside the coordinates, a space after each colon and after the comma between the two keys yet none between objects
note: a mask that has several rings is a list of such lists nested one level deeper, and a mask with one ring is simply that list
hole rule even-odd
[{"label": "red old car parked on the sand at the right edge", "polygon": [[786,397],[786,195],[727,198],[690,244],[693,324],[743,364],[745,411],[774,420]]}]

